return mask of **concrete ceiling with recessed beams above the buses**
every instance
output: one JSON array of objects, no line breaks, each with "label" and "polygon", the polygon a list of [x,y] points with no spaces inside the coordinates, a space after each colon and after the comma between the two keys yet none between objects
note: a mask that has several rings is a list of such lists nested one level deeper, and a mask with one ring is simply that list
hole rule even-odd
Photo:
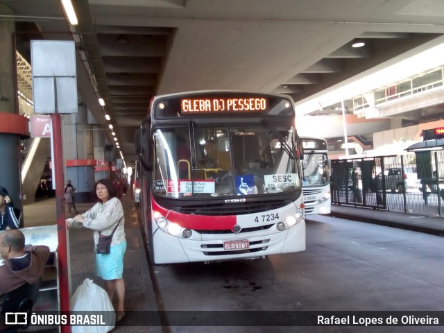
[{"label": "concrete ceiling with recessed beams above the buses", "polygon": [[[154,94],[241,89],[301,101],[441,44],[444,34],[442,0],[73,2],[75,27],[56,0],[0,0],[15,12],[25,56],[35,37],[76,40],[79,98],[99,123],[110,114],[128,162]],[[357,39],[366,46],[353,49]]]}]

